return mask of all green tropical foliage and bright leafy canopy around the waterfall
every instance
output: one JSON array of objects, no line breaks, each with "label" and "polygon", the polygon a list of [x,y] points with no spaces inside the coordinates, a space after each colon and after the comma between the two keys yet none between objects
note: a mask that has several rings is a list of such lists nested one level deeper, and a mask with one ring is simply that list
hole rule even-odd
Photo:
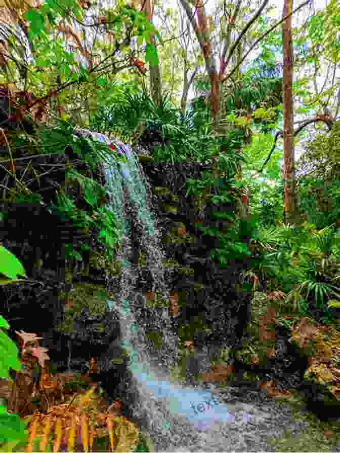
[{"label": "all green tropical foliage and bright leafy canopy around the waterfall", "polygon": [[[8,6],[8,3],[5,0],[4,4]],[[256,282],[266,282],[271,294],[277,296],[282,312],[295,311],[331,323],[331,308],[340,303],[340,142],[339,126],[333,121],[340,104],[339,82],[335,77],[340,13],[335,0],[324,11],[309,15],[301,29],[293,30],[294,68],[299,72],[312,65],[313,71],[309,72],[314,73],[299,75],[293,83],[293,95],[301,101],[296,112],[309,116],[313,109],[319,111],[327,107],[330,99],[335,99],[331,106],[334,118],[329,120],[327,114],[321,126],[317,123],[320,118],[313,120],[313,127],[319,128],[319,132],[309,140],[301,163],[313,163],[315,168],[299,180],[300,211],[304,217],[294,224],[283,222],[284,179],[280,168],[283,153],[278,144],[283,134],[279,130],[283,85],[282,62],[278,63],[276,56],[282,53],[283,41],[279,28],[269,31],[274,20],[262,14],[250,30],[244,16],[251,9],[239,2],[238,6],[229,5],[229,16],[226,8],[223,11],[217,5],[217,17],[226,27],[221,36],[221,28],[212,18],[201,21],[209,22],[211,36],[221,45],[223,55],[218,78],[222,132],[216,133],[211,114],[212,77],[211,74],[206,77],[202,69],[203,58],[209,66],[211,53],[214,54],[206,52],[207,42],[212,48],[215,43],[210,35],[207,40],[202,39],[206,29],[201,30],[203,34],[197,33],[201,49],[196,55],[197,48],[181,48],[177,39],[174,44],[179,24],[171,9],[162,11],[169,26],[161,36],[145,11],[126,6],[120,0],[112,8],[97,11],[97,23],[91,26],[86,22],[84,8],[75,0],[62,0],[58,4],[49,0],[36,8],[30,3],[17,3],[18,23],[0,25],[3,126],[0,146],[6,147],[0,162],[5,172],[0,181],[1,201],[44,205],[44,191],[51,193],[53,185],[41,189],[41,181],[58,167],[64,181],[53,189],[54,196],[50,197],[47,209],[73,227],[87,233],[96,231],[110,259],[121,241],[121,222],[106,209],[105,190],[94,173],[102,162],[126,160],[107,145],[76,137],[74,126],[90,128],[131,145],[150,145],[154,162],[217,163],[217,177],[203,172],[201,179],[186,180],[187,197],[193,196],[199,206],[210,203],[216,208],[212,210],[211,220],[219,226],[199,227],[202,235],[219,240],[211,258],[220,267],[230,261],[250,263],[245,276],[251,277],[254,286]],[[155,5],[157,8],[160,10],[159,5]],[[240,12],[242,18],[236,14]],[[200,18],[207,19],[204,15]],[[94,40],[91,46],[86,46],[86,41],[91,41],[89,36],[81,40],[74,23],[100,31],[105,35],[104,42]],[[237,43],[234,27],[242,30]],[[181,34],[185,39],[185,33]],[[237,58],[233,52],[229,54],[233,43]],[[245,49],[255,45],[259,46],[258,56],[251,58],[251,64],[241,70]],[[330,86],[318,92],[316,78],[322,56],[328,68],[334,70],[332,77],[327,72]],[[157,101],[149,94],[148,82],[152,85],[150,66],[159,66],[160,61],[162,82],[159,80],[161,86],[156,88],[162,96]],[[232,66],[228,71],[233,71],[233,77],[230,73],[226,75],[227,66]],[[174,93],[180,91],[181,83],[182,99],[186,99],[191,86],[197,92],[205,90],[205,95],[197,95],[190,106],[179,108],[182,102]],[[311,121],[304,117],[298,121],[298,128],[306,118],[307,123]],[[18,125],[22,128],[18,129]],[[302,129],[295,132],[297,145]],[[61,163],[45,161],[47,156],[65,154],[72,157]],[[71,186],[81,193],[81,204],[75,200]],[[243,205],[247,201],[249,212],[244,215]],[[221,205],[231,209],[221,210]],[[4,210],[1,217],[6,219],[8,215],[9,211]],[[81,259],[89,248],[83,243],[75,250],[72,243],[66,243],[65,258]],[[0,263],[3,274],[0,284],[27,278],[21,263],[3,245],[0,245]],[[0,323],[8,328],[4,319]],[[8,367],[20,369],[20,364],[18,351],[2,333],[0,368],[8,376]],[[0,443],[14,441],[14,432],[24,437],[18,417],[12,417],[4,406],[0,410],[3,420]],[[82,423],[83,430],[86,427]],[[23,438],[20,440],[24,442]]]}]

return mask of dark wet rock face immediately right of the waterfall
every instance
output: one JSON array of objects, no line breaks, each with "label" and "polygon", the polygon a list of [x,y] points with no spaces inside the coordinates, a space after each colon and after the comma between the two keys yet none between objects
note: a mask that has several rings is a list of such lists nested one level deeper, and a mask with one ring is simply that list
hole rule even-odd
[{"label": "dark wet rock face immediately right of the waterfall", "polygon": [[[198,228],[198,225],[216,226],[211,212],[228,211],[232,207],[222,203],[214,206],[203,203],[199,211],[195,207],[195,198],[186,194],[187,179],[201,178],[202,172],[209,169],[207,165],[141,162],[140,167],[146,185],[153,192],[152,210],[162,233],[166,259],[178,263],[178,266],[166,270],[170,291],[179,294],[179,315],[173,320],[175,331],[199,315],[210,332],[197,330],[192,338],[196,344],[203,346],[207,342],[219,342],[221,347],[233,345],[250,320],[250,290],[239,280],[247,265],[235,261],[225,268],[220,267],[210,258],[211,251],[218,248],[218,238],[202,235]],[[172,210],[171,206],[175,209]],[[178,225],[181,226],[174,235]],[[169,237],[170,234],[173,238]],[[202,285],[201,291],[195,289],[197,284]]]}]

